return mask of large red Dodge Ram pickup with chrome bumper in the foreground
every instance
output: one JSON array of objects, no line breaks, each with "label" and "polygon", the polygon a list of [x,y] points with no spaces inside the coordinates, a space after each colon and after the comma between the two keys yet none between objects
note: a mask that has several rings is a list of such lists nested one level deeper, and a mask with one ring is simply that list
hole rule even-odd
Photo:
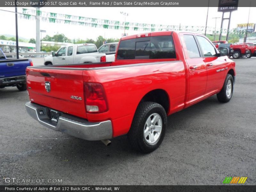
[{"label": "large red Dodge Ram pickup with chrome bumper in the foreground", "polygon": [[214,94],[228,102],[235,62],[197,33],[153,32],[120,39],[114,62],[27,68],[26,109],[40,124],[85,140],[128,134],[148,153],[167,116]]}]

